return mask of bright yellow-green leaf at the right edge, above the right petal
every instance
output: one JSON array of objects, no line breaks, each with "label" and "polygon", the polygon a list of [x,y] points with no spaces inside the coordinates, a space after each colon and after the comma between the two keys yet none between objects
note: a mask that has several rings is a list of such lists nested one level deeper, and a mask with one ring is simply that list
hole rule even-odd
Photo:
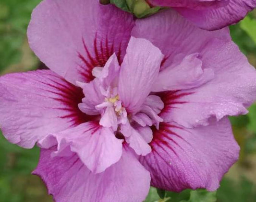
[{"label": "bright yellow-green leaf at the right edge, above the right petal", "polygon": [[244,20],[240,22],[240,26],[256,44],[256,20],[246,16]]}]

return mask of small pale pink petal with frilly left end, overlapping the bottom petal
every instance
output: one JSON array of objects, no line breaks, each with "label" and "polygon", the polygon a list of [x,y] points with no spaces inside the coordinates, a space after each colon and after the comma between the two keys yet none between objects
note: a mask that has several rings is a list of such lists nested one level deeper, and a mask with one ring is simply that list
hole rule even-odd
[{"label": "small pale pink petal with frilly left end, overlapping the bottom petal", "polygon": [[[56,140],[52,141],[52,137]],[[54,146],[53,144],[58,145],[58,148],[52,156],[70,156],[70,151],[73,151],[93,173],[105,171],[122,156],[122,140],[117,139],[109,128],[101,127],[95,122],[83,123],[48,135],[38,143],[38,146],[49,149]],[[67,153],[63,153],[66,147]]]}]

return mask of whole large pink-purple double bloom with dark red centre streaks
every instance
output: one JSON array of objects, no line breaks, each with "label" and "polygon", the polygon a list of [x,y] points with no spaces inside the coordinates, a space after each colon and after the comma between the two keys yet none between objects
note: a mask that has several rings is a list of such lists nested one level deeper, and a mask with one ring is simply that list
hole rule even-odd
[{"label": "whole large pink-purple double bloom with dark red centre streaks", "polygon": [[227,28],[166,10],[142,20],[96,0],[43,0],[28,40],[50,70],[0,77],[0,127],[41,147],[56,202],[142,202],[150,185],[214,191],[237,160],[227,115],[256,72]]}]

